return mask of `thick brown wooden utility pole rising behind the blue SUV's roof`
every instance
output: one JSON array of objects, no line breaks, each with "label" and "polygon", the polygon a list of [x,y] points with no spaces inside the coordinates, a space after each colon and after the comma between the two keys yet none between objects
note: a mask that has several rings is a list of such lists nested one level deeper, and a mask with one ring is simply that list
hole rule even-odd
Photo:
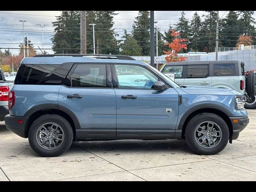
[{"label": "thick brown wooden utility pole rising behind the blue SUV's roof", "polygon": [[86,54],[86,11],[80,12],[80,54]]}]

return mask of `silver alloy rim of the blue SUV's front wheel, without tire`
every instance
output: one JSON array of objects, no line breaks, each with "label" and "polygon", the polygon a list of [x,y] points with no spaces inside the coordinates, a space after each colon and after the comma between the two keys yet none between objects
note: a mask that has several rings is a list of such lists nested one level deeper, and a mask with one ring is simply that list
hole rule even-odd
[{"label": "silver alloy rim of the blue SUV's front wheel, without tire", "polygon": [[205,121],[196,127],[194,138],[201,147],[213,148],[220,143],[222,132],[218,124]]}]

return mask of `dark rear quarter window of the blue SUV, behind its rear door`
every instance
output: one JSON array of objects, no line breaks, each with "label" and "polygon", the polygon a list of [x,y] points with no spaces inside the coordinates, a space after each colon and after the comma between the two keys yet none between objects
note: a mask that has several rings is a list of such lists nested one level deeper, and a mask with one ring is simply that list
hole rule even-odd
[{"label": "dark rear quarter window of the blue SUV, behind its rear door", "polygon": [[28,64],[22,76],[21,84],[60,85],[66,78],[72,63],[62,65]]}]

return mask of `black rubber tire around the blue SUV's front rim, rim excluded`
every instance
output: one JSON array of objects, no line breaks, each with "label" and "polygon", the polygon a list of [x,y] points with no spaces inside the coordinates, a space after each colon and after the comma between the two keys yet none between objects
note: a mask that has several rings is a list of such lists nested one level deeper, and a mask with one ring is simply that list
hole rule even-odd
[{"label": "black rubber tire around the blue SUV's front rim, rim excluded", "polygon": [[[198,130],[197,128],[199,127],[199,125],[201,125],[202,123],[207,124],[207,122],[213,122],[216,125],[218,125],[216,127],[218,127],[218,129],[220,129],[220,131],[218,131],[218,132],[221,133],[221,137],[216,138],[216,140],[215,140],[216,145],[212,146],[212,147],[209,146],[208,148],[207,148],[207,146],[200,145],[197,141],[198,138],[196,137],[196,134],[198,134],[196,130]],[[212,127],[214,127],[214,126],[212,126]],[[204,132],[204,130],[203,130],[203,132]],[[214,132],[212,132],[212,133],[214,133]],[[207,134],[207,132],[206,132],[206,134]],[[199,136],[199,137],[201,137],[201,136]],[[214,136],[211,136],[211,138],[212,137],[214,137]],[[187,142],[188,146],[195,153],[200,154],[200,155],[214,155],[214,154],[221,152],[228,144],[229,129],[228,129],[226,122],[220,116],[218,116],[216,114],[212,114],[212,113],[201,113],[201,114],[198,114],[198,115],[192,117],[190,119],[190,121],[188,122],[188,124],[186,126],[186,130],[185,130],[185,138],[186,138],[186,142]],[[203,134],[202,134],[202,138],[204,138]],[[208,137],[208,138],[210,138],[210,137]],[[217,139],[218,139],[218,141],[217,141]],[[205,142],[208,141],[207,138],[204,138],[204,140],[205,140]],[[211,144],[213,144],[213,142],[211,142]]]}]

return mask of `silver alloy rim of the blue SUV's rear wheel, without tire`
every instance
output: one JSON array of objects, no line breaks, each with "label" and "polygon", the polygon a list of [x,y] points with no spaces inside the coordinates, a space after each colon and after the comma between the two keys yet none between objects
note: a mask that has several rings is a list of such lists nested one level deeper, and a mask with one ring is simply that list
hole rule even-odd
[{"label": "silver alloy rim of the blue SUV's rear wheel, without tire", "polygon": [[64,141],[64,132],[56,123],[45,123],[36,131],[36,142],[46,150],[59,148]]}]

